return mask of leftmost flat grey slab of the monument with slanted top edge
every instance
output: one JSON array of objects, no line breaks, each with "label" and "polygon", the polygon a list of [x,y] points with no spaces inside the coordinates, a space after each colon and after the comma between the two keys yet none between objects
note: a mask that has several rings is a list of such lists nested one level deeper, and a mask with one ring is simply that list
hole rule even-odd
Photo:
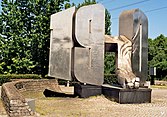
[{"label": "leftmost flat grey slab of the monument with slanted top edge", "polygon": [[75,7],[51,15],[49,76],[72,80],[72,26]]}]

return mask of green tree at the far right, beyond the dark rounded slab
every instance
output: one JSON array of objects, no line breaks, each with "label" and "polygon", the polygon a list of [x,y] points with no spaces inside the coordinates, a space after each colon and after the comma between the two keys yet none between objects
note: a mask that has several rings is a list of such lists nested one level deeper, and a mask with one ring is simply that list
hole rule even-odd
[{"label": "green tree at the far right, beyond the dark rounded slab", "polygon": [[154,40],[149,39],[149,67],[157,68],[159,79],[167,77],[167,37],[160,35]]}]

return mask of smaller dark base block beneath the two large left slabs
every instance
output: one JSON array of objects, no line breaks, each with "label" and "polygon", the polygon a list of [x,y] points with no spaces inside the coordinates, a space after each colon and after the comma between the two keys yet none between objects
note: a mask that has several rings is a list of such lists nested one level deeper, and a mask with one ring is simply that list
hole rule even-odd
[{"label": "smaller dark base block beneath the two large left slabs", "polygon": [[102,90],[101,86],[96,85],[82,85],[82,84],[75,84],[74,85],[74,95],[79,96],[80,98],[87,98],[90,96],[101,95]]}]

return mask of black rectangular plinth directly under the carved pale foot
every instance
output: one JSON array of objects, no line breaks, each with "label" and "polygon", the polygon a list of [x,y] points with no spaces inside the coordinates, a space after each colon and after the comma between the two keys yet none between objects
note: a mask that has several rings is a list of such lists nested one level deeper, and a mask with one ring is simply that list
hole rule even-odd
[{"label": "black rectangular plinth directly under the carved pale foot", "polygon": [[120,104],[151,103],[151,89],[123,89],[120,87],[103,85],[102,93],[107,98]]}]

